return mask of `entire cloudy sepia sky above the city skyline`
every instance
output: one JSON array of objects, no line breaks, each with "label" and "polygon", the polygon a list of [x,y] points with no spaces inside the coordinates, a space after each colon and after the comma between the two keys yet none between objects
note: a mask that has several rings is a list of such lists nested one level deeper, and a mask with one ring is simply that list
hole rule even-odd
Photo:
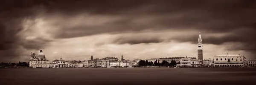
[{"label": "entire cloudy sepia sky above the city skyline", "polygon": [[255,0],[3,0],[0,62],[117,57],[256,59]]}]

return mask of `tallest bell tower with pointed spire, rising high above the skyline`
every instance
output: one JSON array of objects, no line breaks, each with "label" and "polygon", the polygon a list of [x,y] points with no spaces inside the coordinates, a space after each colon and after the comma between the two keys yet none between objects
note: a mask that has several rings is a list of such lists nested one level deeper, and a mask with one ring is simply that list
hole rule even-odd
[{"label": "tallest bell tower with pointed spire, rising high above the skyline", "polygon": [[203,44],[200,32],[198,37],[198,59],[203,63]]}]

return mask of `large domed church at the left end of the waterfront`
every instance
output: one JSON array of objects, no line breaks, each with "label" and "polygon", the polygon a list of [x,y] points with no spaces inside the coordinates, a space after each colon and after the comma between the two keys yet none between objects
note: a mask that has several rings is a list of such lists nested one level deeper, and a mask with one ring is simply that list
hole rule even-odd
[{"label": "large domed church at the left end of the waterfront", "polygon": [[32,68],[49,68],[50,62],[45,58],[42,48],[36,57],[35,52],[30,54],[29,67]]}]

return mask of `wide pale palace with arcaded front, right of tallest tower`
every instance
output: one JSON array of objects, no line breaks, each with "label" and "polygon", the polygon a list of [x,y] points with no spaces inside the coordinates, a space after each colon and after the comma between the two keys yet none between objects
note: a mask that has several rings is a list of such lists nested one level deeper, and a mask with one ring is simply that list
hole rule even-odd
[{"label": "wide pale palace with arcaded front, right of tallest tower", "polygon": [[221,54],[214,56],[214,67],[241,67],[244,66],[244,56],[238,54]]}]

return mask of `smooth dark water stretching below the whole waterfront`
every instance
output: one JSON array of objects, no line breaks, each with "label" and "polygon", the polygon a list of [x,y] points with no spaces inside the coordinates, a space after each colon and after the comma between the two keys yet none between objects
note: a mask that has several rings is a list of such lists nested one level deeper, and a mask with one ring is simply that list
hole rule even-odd
[{"label": "smooth dark water stretching below the whole waterfront", "polygon": [[0,85],[255,85],[256,68],[7,68]]}]

